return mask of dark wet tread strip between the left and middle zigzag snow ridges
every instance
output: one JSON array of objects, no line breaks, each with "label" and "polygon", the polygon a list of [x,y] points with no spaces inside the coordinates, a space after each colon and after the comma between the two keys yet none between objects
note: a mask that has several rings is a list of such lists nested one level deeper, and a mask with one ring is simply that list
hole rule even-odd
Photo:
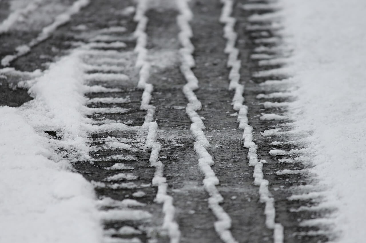
[{"label": "dark wet tread strip between the left and middle zigzag snow ridges", "polygon": [[[157,140],[161,143],[160,159],[164,163],[168,194],[174,198],[180,242],[220,242],[207,207],[207,193],[202,187],[202,174],[197,170],[190,120],[184,109],[187,101],[182,92],[184,77],[179,71],[179,33],[176,5],[164,5],[147,12],[150,25],[149,53],[152,69],[149,81],[154,85],[152,103],[159,123]],[[173,4],[174,3],[174,4]]]}]

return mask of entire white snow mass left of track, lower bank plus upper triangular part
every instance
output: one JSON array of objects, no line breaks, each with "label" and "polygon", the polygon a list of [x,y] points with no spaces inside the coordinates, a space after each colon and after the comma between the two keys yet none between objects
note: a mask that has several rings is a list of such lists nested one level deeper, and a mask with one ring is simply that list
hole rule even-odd
[{"label": "entire white snow mass left of track, lower bank plus upper triangular part", "polygon": [[[54,152],[64,147],[78,151],[75,158],[89,156],[78,64],[76,54],[60,59],[31,86],[34,100],[0,107],[0,242],[102,238],[93,186]],[[44,131],[63,139],[46,138]]]}]

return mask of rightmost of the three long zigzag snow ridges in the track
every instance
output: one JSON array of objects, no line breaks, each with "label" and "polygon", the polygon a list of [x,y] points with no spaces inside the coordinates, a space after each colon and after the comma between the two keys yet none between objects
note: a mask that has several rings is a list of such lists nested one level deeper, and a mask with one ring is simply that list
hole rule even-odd
[{"label": "rightmost of the three long zigzag snow ridges in the track", "polygon": [[263,164],[265,160],[258,161],[257,144],[253,142],[253,127],[248,124],[247,111],[248,107],[243,105],[244,85],[239,83],[240,80],[240,66],[241,62],[238,59],[239,50],[235,47],[237,33],[234,31],[236,19],[231,17],[233,10],[233,0],[221,0],[223,8],[220,16],[220,22],[224,23],[224,38],[227,39],[227,45],[224,52],[228,54],[227,66],[231,67],[229,73],[229,89],[235,90],[235,95],[232,100],[233,108],[239,111],[238,122],[239,128],[244,129],[244,147],[249,148],[247,158],[249,158],[249,165],[254,166],[254,184],[259,186],[260,202],[265,203],[266,227],[273,229],[273,241],[275,243],[283,243],[284,232],[283,226],[275,222],[276,210],[275,200],[270,196],[268,189],[268,180],[264,179]]}]

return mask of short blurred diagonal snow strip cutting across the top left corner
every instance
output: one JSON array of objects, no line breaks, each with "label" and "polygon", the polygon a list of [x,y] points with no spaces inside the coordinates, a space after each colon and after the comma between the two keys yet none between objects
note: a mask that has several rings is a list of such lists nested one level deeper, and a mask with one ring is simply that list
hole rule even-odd
[{"label": "short blurred diagonal snow strip cutting across the top left corner", "polygon": [[21,16],[27,15],[30,12],[36,10],[42,4],[42,2],[44,2],[44,0],[34,0],[28,3],[24,8],[17,9],[10,13],[10,15],[0,23],[0,35],[8,32],[12,25],[17,22]]}]

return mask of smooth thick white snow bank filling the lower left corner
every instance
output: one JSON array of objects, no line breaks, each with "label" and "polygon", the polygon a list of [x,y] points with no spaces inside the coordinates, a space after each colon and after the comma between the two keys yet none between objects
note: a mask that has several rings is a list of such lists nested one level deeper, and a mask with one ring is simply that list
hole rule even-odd
[{"label": "smooth thick white snow bank filling the lower left corner", "polygon": [[100,242],[94,190],[16,108],[0,107],[0,242]]}]

